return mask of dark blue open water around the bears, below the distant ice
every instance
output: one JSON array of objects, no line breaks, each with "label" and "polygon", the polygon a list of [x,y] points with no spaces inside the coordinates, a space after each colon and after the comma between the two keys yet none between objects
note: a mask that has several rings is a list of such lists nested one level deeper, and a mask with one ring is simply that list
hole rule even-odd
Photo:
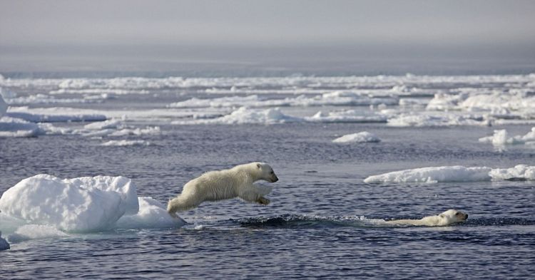
[{"label": "dark blue open water around the bears, below the distant ice", "polygon": [[[531,127],[509,126],[511,135]],[[0,139],[0,192],[39,173],[123,175],[161,202],[207,170],[265,161],[279,182],[260,206],[206,202],[180,229],[116,230],[14,242],[0,278],[533,279],[535,182],[366,184],[414,167],[535,164],[535,149],[495,150],[497,128],[384,124],[163,125],[153,145],[102,147],[79,135]],[[379,143],[336,145],[369,131]],[[267,184],[267,183],[266,183]],[[373,219],[469,214],[452,227],[385,227]],[[363,216],[363,217],[362,217]],[[371,222],[370,222],[371,221]]]}]

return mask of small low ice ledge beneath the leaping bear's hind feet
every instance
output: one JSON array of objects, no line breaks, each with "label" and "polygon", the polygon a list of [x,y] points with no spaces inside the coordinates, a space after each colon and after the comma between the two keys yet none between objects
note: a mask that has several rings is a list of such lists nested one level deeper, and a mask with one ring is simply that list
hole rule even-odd
[{"label": "small low ice ledge beneath the leaping bear's hind feet", "polygon": [[170,217],[165,205],[152,197],[138,197],[139,212],[125,215],[117,221],[120,229],[176,228],[186,222],[180,218]]}]

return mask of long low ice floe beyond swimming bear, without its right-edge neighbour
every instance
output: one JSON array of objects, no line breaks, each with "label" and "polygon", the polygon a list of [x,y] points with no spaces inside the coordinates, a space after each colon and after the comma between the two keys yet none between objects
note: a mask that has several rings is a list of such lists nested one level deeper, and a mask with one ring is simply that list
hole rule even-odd
[{"label": "long low ice floe beyond swimming bear, without its right-edge neighbour", "polygon": [[422,167],[367,177],[364,182],[479,182],[489,181],[489,167]]}]

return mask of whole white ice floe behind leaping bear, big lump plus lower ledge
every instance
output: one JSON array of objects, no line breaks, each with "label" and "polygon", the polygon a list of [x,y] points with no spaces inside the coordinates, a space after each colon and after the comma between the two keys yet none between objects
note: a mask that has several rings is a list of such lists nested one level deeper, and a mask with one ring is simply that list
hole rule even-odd
[{"label": "whole white ice floe behind leaping bear, big lump plus lower ledge", "polygon": [[[61,180],[36,175],[6,190],[0,198],[0,211],[0,229],[15,228],[14,233],[23,238],[34,238],[27,234],[31,229],[21,228],[26,224],[53,227],[61,232],[96,232],[121,224],[132,228],[134,222],[138,228],[180,227],[184,223],[181,219],[170,219],[165,207],[154,199],[138,198],[136,185],[126,177]],[[118,222],[120,219],[127,222]]]}]

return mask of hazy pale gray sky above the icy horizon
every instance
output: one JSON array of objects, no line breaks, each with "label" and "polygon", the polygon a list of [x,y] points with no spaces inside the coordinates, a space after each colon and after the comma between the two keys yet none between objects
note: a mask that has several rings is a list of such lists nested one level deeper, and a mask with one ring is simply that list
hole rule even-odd
[{"label": "hazy pale gray sky above the icy horizon", "polygon": [[534,15],[535,1],[0,0],[0,71],[111,58],[534,61]]}]

